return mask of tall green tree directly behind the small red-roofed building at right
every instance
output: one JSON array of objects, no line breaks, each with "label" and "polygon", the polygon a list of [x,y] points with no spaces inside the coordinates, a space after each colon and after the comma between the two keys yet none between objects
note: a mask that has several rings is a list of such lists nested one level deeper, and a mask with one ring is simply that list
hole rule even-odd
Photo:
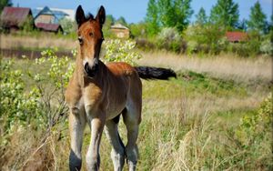
[{"label": "tall green tree directly behind the small red-roofed building at right", "polygon": [[209,20],[215,25],[222,25],[225,28],[234,28],[238,24],[238,4],[233,0],[217,0],[210,12]]}]

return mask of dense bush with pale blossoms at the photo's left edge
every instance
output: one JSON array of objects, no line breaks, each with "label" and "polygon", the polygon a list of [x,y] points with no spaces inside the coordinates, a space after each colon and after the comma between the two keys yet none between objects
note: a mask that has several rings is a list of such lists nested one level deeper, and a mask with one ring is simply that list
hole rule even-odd
[{"label": "dense bush with pale blossoms at the photo's left edge", "polygon": [[24,73],[12,68],[13,60],[0,64],[0,117],[5,120],[5,131],[15,124],[27,126],[41,113],[39,111],[40,92],[32,87],[25,93]]}]

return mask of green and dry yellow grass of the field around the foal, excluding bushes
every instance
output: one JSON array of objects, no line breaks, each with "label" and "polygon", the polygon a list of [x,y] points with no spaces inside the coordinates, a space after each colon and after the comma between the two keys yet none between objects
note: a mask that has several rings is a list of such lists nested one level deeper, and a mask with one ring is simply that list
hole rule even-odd
[{"label": "green and dry yellow grass of the field around the foal, excluding bushes", "polygon": [[[268,61],[263,57],[144,54],[139,65],[174,68],[177,79],[142,81],[144,106],[137,140],[137,170],[270,170],[270,141],[246,148],[238,143],[235,134],[241,118],[257,113],[260,102],[272,91]],[[31,62],[16,60],[16,68],[25,69]],[[45,72],[46,66],[31,69]],[[34,125],[14,127],[12,135],[2,137],[6,143],[1,140],[0,169],[66,170],[67,129],[67,121],[53,127],[47,133],[50,136]],[[119,130],[126,142],[122,122]],[[84,158],[89,139],[86,128]],[[101,170],[113,170],[110,150],[103,135]]]}]

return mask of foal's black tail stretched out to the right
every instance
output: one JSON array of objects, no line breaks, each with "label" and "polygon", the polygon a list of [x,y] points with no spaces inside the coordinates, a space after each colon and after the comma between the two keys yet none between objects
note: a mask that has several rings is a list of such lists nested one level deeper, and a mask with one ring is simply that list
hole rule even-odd
[{"label": "foal's black tail stretched out to the right", "polygon": [[167,80],[169,77],[177,78],[175,71],[162,67],[135,66],[139,77],[143,79],[162,79]]}]

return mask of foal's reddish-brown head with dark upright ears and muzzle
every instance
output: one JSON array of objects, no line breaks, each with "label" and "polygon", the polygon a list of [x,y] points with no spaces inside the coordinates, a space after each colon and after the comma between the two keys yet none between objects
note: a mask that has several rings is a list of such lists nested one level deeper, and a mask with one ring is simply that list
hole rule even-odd
[{"label": "foal's reddish-brown head with dark upright ears and muzzle", "polygon": [[82,65],[85,70],[85,74],[89,77],[95,76],[98,69],[100,47],[104,40],[102,27],[105,21],[106,11],[103,6],[100,6],[95,18],[93,15],[86,17],[81,5],[79,5],[76,9],[80,57],[83,61]]}]

